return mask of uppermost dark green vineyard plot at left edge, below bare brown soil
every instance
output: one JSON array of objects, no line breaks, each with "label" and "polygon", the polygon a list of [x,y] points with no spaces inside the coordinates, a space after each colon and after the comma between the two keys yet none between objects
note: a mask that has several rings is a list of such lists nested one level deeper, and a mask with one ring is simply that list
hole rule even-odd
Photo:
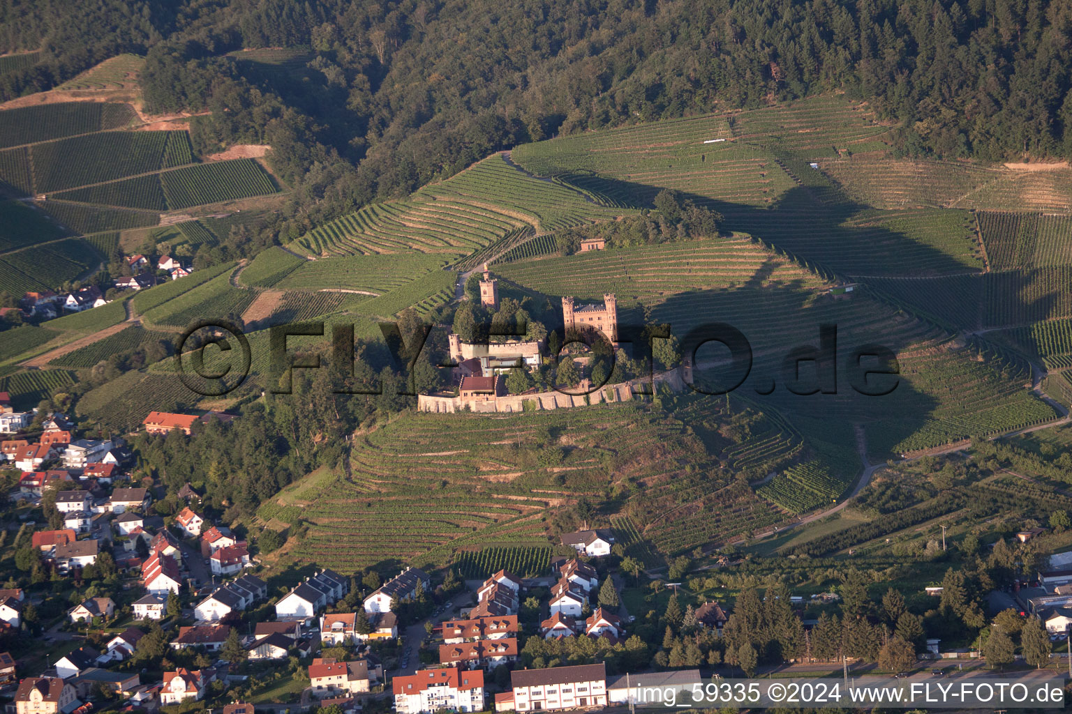
[{"label": "uppermost dark green vineyard plot at left edge, below bare brown soil", "polygon": [[0,111],[0,149],[121,128],[137,115],[129,104],[66,102]]}]

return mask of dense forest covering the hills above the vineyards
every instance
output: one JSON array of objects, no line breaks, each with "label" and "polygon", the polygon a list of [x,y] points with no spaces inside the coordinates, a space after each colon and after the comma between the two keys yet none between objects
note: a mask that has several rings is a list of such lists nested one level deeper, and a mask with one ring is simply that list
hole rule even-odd
[{"label": "dense forest covering the hills above the vineyards", "polygon": [[262,228],[281,241],[517,143],[831,91],[872,103],[900,155],[1072,156],[1060,2],[5,0],[0,27],[0,50],[41,49],[0,97],[143,54],[147,110],[212,110],[198,152],[271,145],[295,186]]}]

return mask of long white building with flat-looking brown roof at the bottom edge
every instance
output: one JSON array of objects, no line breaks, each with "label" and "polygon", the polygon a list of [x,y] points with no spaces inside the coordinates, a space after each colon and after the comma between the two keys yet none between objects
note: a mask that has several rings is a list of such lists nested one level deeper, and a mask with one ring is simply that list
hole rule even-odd
[{"label": "long white building with flat-looking brown roof at the bottom edge", "polygon": [[574,665],[510,672],[517,712],[607,705],[607,666]]}]

